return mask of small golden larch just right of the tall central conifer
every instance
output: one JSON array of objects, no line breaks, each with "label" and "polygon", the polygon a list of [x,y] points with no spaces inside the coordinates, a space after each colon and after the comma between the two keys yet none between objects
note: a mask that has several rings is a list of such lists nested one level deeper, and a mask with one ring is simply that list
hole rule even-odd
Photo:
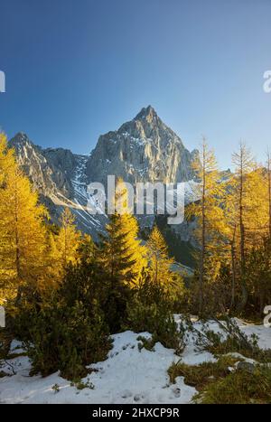
[{"label": "small golden larch just right of the tall central conifer", "polygon": [[162,233],[154,226],[146,243],[150,276],[155,284],[170,286],[173,283],[173,258],[169,258],[168,249]]}]

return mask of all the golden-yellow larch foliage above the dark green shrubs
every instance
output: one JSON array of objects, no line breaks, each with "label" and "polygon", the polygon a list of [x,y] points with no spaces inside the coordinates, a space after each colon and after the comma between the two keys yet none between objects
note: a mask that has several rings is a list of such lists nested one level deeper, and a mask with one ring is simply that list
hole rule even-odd
[{"label": "all the golden-yellow larch foliage above the dark green shrubs", "polygon": [[[266,166],[259,165],[246,145],[240,144],[233,164],[234,173],[221,175],[205,139],[200,157],[192,164],[197,201],[186,212],[195,220],[198,265],[192,292],[199,314],[210,302],[222,303],[221,312],[240,314],[247,305],[263,309],[271,294],[270,155]],[[138,222],[121,179],[114,204],[116,211],[109,216],[107,235],[100,245],[77,230],[68,207],[59,228],[48,224],[48,212],[16,163],[5,135],[0,134],[0,305],[10,298],[18,301],[22,295],[33,300],[38,295],[42,300],[50,297],[70,266],[88,267],[93,261],[102,268],[105,288],[116,287],[116,297],[140,286],[143,277],[163,286],[164,292],[180,289],[182,277],[173,273],[173,259],[158,228],[154,226],[145,245],[139,239]]]}]

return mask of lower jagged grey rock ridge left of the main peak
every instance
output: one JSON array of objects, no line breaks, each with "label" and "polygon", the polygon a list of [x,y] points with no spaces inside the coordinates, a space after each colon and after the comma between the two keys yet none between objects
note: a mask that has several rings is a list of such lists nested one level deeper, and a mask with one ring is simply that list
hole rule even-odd
[{"label": "lower jagged grey rock ridge left of the main peak", "polygon": [[18,163],[40,193],[40,201],[49,210],[51,220],[59,222],[64,207],[74,213],[79,230],[98,239],[107,218],[87,211],[86,163],[88,157],[74,155],[63,148],[42,149],[23,133],[9,141]]}]

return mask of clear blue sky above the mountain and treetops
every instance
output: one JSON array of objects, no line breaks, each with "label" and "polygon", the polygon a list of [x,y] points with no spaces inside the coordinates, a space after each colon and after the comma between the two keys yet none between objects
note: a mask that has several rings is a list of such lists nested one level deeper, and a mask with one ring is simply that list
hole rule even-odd
[{"label": "clear blue sky above the mountain and treetops", "polygon": [[0,0],[0,126],[89,153],[151,104],[220,165],[271,145],[270,0]]}]

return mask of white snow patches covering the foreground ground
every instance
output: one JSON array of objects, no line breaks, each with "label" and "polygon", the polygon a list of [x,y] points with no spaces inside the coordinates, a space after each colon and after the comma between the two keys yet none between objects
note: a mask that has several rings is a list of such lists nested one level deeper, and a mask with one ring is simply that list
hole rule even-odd
[{"label": "white snow patches covering the foreground ground", "polygon": [[[178,319],[180,317],[176,315]],[[199,323],[194,324],[200,328]],[[240,320],[238,324],[248,335],[257,334],[260,347],[271,348],[271,328],[245,324]],[[216,323],[210,323],[210,329],[219,328]],[[185,385],[182,377],[177,378],[175,384],[170,384],[167,374],[173,361],[179,361],[180,357],[159,342],[155,344],[154,352],[145,349],[140,352],[139,335],[150,337],[149,333],[131,331],[112,335],[113,348],[107,360],[91,365],[96,371],[83,380],[93,384],[93,389],[72,387],[70,381],[62,379],[59,373],[46,378],[30,377],[31,363],[26,356],[1,362],[3,366],[0,370],[11,376],[0,378],[0,403],[189,403],[196,390]],[[22,352],[20,343],[13,342],[11,351]],[[190,337],[182,353],[182,361],[197,364],[213,360],[209,352],[196,352]],[[57,392],[52,389],[56,384],[59,386]]]}]

